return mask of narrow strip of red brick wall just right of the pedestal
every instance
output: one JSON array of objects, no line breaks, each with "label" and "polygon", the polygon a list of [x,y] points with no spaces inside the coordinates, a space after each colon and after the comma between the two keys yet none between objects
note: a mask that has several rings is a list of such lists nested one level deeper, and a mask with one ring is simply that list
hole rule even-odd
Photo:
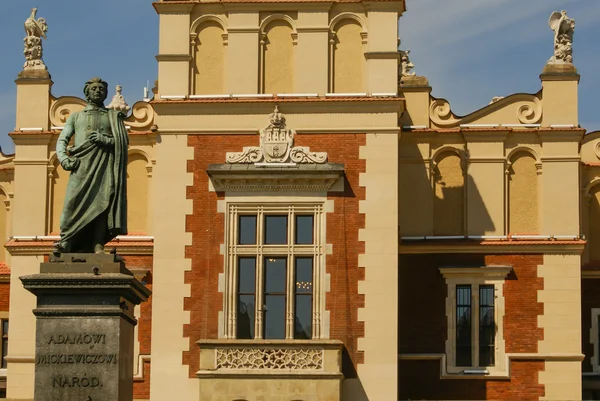
[{"label": "narrow strip of red brick wall just right of the pedestal", "polygon": [[[144,268],[150,269],[150,272],[142,279],[146,283],[146,287],[152,291],[152,255],[143,256],[124,256],[125,265],[129,269]],[[142,303],[140,310],[140,318],[138,319],[138,340],[140,342],[140,355],[151,354],[151,332],[152,332],[152,296],[148,301]],[[138,361],[133,361],[137,364]],[[150,362],[144,362],[143,379],[133,382],[133,397],[136,399],[150,398]]]}]

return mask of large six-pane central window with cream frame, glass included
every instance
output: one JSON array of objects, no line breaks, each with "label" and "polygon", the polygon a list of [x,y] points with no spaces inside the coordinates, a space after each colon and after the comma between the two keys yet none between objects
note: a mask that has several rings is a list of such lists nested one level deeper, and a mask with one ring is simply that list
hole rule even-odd
[{"label": "large six-pane central window with cream frame, glass included", "polygon": [[321,337],[323,204],[229,204],[225,337]]}]

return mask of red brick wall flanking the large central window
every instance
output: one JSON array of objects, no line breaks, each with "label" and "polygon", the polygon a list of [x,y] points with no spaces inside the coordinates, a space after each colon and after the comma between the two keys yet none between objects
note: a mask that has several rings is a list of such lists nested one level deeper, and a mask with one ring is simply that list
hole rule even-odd
[{"label": "red brick wall flanking the large central window", "polygon": [[[185,282],[191,285],[192,296],[184,301],[190,311],[190,324],[184,326],[184,336],[190,339],[190,351],[183,353],[183,363],[189,366],[190,377],[198,370],[199,339],[217,338],[218,312],[223,309],[223,297],[218,292],[218,276],[223,272],[225,216],[217,213],[217,201],[222,193],[208,191],[206,168],[211,163],[224,163],[226,152],[239,152],[244,146],[258,145],[258,135],[190,135],[189,146],[194,148],[194,160],[188,164],[193,173],[193,185],[187,188],[188,199],[193,200],[193,212],[186,221],[186,231],[192,233],[192,245],[186,250],[191,259],[191,271]],[[333,254],[327,256],[327,273],[331,274],[331,292],[327,294],[327,309],[331,311],[331,337],[343,340],[354,365],[361,361],[357,339],[363,336],[363,325],[358,323],[358,308],[363,297],[358,295],[358,255],[364,252],[358,241],[358,230],[364,227],[364,217],[358,213],[358,201],[364,199],[364,189],[358,178],[364,172],[364,161],[359,161],[359,147],[365,136],[358,134],[298,135],[296,146],[310,146],[313,151],[328,152],[329,161],[344,163],[347,182],[344,193],[331,193],[335,211],[327,215],[327,243],[333,245]]]}]

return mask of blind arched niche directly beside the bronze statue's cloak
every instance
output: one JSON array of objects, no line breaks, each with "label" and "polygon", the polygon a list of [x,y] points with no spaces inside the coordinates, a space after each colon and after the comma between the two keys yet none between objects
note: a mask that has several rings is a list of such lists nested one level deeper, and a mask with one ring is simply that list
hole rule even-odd
[{"label": "blind arched niche directly beside the bronze statue's cloak", "polygon": [[138,153],[129,155],[127,164],[127,228],[129,233],[147,234],[148,161]]}]

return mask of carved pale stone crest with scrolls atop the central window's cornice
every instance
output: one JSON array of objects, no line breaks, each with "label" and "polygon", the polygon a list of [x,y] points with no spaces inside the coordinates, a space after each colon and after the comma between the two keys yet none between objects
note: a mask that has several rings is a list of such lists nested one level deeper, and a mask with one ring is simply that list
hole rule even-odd
[{"label": "carved pale stone crest with scrolls atop the central window's cornice", "polygon": [[245,147],[242,152],[228,152],[229,164],[323,164],[326,152],[311,152],[308,147],[294,147],[296,131],[287,128],[285,117],[275,106],[269,115],[269,125],[260,130],[260,146]]}]

